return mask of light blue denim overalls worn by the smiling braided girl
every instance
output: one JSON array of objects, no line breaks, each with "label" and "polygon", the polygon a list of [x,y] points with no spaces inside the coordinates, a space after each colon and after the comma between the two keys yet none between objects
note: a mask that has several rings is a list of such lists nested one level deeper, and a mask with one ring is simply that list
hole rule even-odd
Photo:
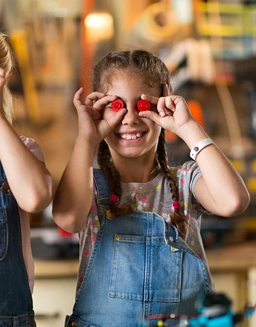
[{"label": "light blue denim overalls worn by the smiling braided girl", "polygon": [[[94,175],[98,203],[107,210],[110,188],[102,171]],[[149,315],[196,314],[196,299],[208,293],[205,264],[160,215],[135,211],[112,220],[104,215],[65,326],[137,327]]]}]

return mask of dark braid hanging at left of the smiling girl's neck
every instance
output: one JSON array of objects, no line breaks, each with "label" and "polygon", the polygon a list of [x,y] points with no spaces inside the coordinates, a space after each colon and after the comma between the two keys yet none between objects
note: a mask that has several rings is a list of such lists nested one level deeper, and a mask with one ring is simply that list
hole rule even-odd
[{"label": "dark braid hanging at left of the smiling girl's neck", "polygon": [[[105,173],[107,181],[110,185],[110,192],[114,195],[117,195],[117,198],[121,198],[122,187],[120,183],[120,175],[111,162],[110,149],[104,140],[100,142],[98,147],[97,163],[103,173]],[[131,213],[132,207],[129,205],[118,207],[114,202],[110,202],[110,212],[115,217],[120,217],[122,215],[127,215],[128,213]]]}]

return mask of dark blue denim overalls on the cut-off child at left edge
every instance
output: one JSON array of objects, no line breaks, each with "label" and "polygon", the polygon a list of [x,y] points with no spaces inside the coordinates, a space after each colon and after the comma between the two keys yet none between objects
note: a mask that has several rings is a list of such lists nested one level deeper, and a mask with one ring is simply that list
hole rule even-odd
[{"label": "dark blue denim overalls on the cut-off child at left edge", "polygon": [[[22,186],[21,186],[22,187]],[[0,162],[0,327],[36,326],[18,206]]]}]

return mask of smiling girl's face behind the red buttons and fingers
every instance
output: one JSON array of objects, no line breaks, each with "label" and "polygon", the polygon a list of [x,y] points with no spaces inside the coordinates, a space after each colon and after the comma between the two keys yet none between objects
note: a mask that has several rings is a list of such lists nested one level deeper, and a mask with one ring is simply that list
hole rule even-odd
[{"label": "smiling girl's face behind the red buttons and fingers", "polygon": [[[139,117],[137,102],[141,100],[142,94],[161,96],[159,90],[147,85],[134,73],[116,73],[107,89],[107,95],[117,95],[127,108],[122,121],[105,138],[113,161],[120,159],[120,156],[125,158],[144,156],[146,160],[154,160],[161,127],[150,119]],[[156,107],[151,105],[151,110],[156,110]],[[103,118],[107,119],[112,114],[115,112],[110,103],[103,112]]]}]

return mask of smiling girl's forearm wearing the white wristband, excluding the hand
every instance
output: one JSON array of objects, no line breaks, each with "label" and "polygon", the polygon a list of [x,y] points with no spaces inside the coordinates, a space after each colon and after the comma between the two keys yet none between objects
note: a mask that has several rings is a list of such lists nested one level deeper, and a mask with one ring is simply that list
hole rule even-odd
[{"label": "smiling girl's forearm wearing the white wristband, excluding the hand", "polygon": [[[192,149],[198,141],[208,138],[201,126],[191,121],[181,137]],[[198,201],[211,213],[230,217],[242,213],[250,203],[250,195],[238,171],[217,145],[210,144],[196,156],[202,177],[195,184]]]}]

